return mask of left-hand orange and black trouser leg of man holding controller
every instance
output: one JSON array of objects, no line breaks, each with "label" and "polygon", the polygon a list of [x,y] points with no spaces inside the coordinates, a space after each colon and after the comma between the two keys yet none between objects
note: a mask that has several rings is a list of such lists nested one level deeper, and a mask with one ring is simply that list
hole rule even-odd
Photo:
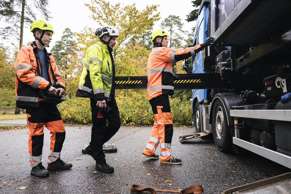
[{"label": "left-hand orange and black trouser leg of man holding controller", "polygon": [[[28,118],[28,117],[27,117]],[[41,161],[42,147],[43,147],[43,124],[44,123],[31,123],[27,119],[28,124],[28,150],[29,162],[31,168],[35,167]]]}]

